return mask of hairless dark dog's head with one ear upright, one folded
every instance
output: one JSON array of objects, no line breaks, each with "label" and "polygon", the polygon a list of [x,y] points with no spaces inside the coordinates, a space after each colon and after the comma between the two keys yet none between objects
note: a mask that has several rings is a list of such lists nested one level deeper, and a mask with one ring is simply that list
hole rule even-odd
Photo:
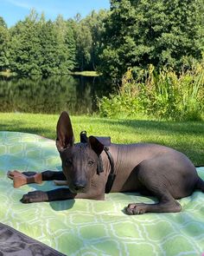
[{"label": "hairless dark dog's head with one ear upright, one folded", "polygon": [[92,177],[99,174],[99,155],[111,144],[110,137],[90,136],[74,143],[73,128],[67,112],[62,112],[57,123],[56,147],[61,155],[62,170],[68,187],[74,194],[86,193]]}]

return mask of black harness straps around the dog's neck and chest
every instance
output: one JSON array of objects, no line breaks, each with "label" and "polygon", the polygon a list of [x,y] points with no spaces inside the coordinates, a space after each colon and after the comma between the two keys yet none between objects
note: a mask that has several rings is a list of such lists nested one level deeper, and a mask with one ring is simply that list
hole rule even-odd
[{"label": "black harness straps around the dog's neck and chest", "polygon": [[[88,138],[86,136],[86,131],[82,131],[80,133],[80,142],[81,143],[87,143],[88,142]],[[111,166],[111,172],[108,175],[108,180],[105,184],[105,194],[108,194],[112,190],[112,185],[113,185],[113,182],[116,178],[116,174],[114,174],[114,161],[112,159],[112,154],[109,152],[109,148],[105,146],[104,151],[105,151],[105,154],[108,157],[108,160],[109,160],[110,166]],[[97,163],[97,174],[100,174],[100,173],[103,173],[103,172],[104,172],[103,161],[101,159],[101,156],[99,155],[99,161]]]}]

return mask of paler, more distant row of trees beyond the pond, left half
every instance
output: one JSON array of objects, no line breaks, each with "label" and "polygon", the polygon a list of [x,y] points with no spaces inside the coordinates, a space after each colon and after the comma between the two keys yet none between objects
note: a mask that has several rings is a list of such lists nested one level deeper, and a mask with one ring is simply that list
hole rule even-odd
[{"label": "paler, more distant row of trees beyond the pond, left half", "polygon": [[0,70],[18,75],[64,75],[73,70],[95,70],[99,64],[100,36],[107,11],[65,20],[46,20],[31,10],[8,28],[0,17]]}]

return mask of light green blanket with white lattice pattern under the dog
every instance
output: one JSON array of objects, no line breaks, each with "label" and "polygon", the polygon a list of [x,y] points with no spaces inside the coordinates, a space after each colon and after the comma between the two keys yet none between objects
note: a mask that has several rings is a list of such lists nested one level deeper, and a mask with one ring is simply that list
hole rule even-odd
[{"label": "light green blanket with white lattice pattern under the dog", "polygon": [[[14,188],[7,171],[61,169],[54,141],[0,132],[0,222],[66,255],[201,255],[204,253],[204,194],[179,200],[182,213],[128,216],[130,202],[152,202],[139,194],[106,194],[105,201],[64,200],[22,204],[22,194],[53,189],[52,181]],[[198,168],[204,179],[204,167]]]}]

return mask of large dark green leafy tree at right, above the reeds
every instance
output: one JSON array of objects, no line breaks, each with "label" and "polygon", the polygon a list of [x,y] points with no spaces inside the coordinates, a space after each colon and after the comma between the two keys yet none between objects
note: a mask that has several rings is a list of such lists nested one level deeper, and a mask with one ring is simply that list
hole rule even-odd
[{"label": "large dark green leafy tree at right, above the reeds", "polygon": [[180,69],[201,58],[202,0],[112,0],[100,70],[120,80],[129,67]]}]

